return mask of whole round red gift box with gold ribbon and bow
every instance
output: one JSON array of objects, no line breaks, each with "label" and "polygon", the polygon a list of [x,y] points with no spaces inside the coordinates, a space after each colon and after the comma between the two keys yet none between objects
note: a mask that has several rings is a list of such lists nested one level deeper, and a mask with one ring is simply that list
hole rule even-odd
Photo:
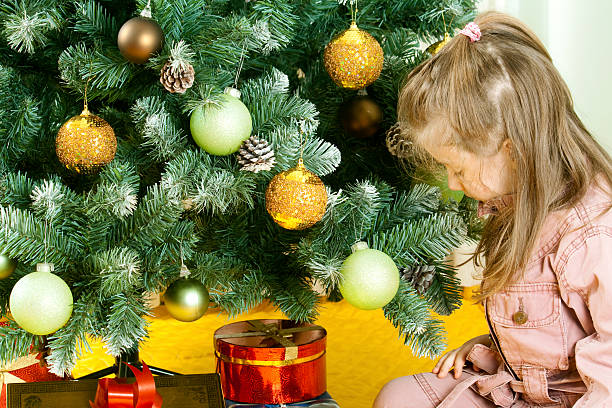
[{"label": "whole round red gift box with gold ribbon and bow", "polygon": [[[252,404],[289,404],[314,399],[327,390],[325,329],[292,320],[251,322],[259,327],[266,325],[272,335],[226,337],[260,332],[249,321],[231,323],[215,332],[217,372],[221,375],[226,399]],[[301,327],[312,330],[284,336],[297,346],[297,355],[295,348],[283,347],[274,339],[275,330]]]}]

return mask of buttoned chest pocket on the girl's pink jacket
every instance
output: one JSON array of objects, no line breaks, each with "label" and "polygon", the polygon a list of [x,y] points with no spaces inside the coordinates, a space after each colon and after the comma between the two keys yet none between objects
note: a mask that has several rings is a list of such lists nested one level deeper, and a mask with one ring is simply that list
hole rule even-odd
[{"label": "buttoned chest pocket on the girl's pink jacket", "polygon": [[487,311],[502,352],[517,371],[522,366],[569,368],[567,333],[556,283],[510,285],[493,295]]}]

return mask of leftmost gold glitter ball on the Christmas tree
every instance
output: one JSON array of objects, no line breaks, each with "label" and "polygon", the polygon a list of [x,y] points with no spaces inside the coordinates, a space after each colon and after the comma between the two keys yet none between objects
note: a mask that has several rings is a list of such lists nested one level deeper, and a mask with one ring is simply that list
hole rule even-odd
[{"label": "leftmost gold glitter ball on the Christmas tree", "polygon": [[113,160],[117,152],[117,139],[108,122],[85,108],[57,132],[55,151],[68,169],[93,174]]}]

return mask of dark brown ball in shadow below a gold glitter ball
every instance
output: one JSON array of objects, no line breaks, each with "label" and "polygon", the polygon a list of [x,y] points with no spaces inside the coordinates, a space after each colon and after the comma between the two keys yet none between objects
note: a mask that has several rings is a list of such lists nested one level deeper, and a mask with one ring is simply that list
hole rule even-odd
[{"label": "dark brown ball in shadow below a gold glitter ball", "polygon": [[382,109],[367,93],[361,94],[342,105],[340,120],[348,135],[366,139],[380,130]]}]

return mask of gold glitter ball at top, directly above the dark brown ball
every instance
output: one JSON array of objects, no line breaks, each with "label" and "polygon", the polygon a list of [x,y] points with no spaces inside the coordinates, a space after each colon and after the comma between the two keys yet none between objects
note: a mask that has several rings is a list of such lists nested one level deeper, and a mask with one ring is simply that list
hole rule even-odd
[{"label": "gold glitter ball at top, directly above the dark brown ball", "polygon": [[362,89],[382,71],[383,50],[367,31],[351,23],[325,47],[323,62],[334,82],[343,88]]}]

